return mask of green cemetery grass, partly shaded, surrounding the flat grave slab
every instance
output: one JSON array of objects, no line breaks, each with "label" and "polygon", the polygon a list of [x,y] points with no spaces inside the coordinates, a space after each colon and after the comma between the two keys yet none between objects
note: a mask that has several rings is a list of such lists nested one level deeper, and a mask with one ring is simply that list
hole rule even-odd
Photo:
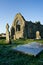
[{"label": "green cemetery grass, partly shaded, surrounding the flat grave slab", "polygon": [[12,50],[13,46],[15,47],[33,41],[43,43],[43,40],[20,39],[12,40],[12,44],[6,44],[5,39],[0,40],[0,65],[43,65],[43,51],[38,56],[34,57]]}]

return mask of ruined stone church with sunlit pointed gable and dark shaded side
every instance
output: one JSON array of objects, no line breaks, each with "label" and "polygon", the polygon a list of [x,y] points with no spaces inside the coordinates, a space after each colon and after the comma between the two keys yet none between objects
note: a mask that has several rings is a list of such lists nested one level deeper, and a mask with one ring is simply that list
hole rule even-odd
[{"label": "ruined stone church with sunlit pointed gable and dark shaded side", "polygon": [[26,21],[20,13],[17,13],[11,26],[10,35],[14,40],[20,38],[33,39],[36,37],[36,31],[39,31],[41,37],[43,38],[42,29],[43,25],[40,23],[32,23],[31,21]]}]

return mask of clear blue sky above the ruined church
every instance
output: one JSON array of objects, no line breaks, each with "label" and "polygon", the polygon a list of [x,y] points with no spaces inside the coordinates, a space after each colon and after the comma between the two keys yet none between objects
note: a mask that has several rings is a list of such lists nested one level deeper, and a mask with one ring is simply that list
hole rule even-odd
[{"label": "clear blue sky above the ruined church", "polygon": [[43,0],[0,0],[0,33],[6,32],[6,23],[11,27],[19,12],[28,21],[43,24]]}]

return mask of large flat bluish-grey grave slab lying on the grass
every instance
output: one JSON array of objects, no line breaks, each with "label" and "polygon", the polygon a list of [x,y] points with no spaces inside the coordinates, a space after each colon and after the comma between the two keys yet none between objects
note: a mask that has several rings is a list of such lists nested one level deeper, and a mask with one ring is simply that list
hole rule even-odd
[{"label": "large flat bluish-grey grave slab lying on the grass", "polygon": [[40,43],[32,42],[29,44],[18,45],[12,49],[24,54],[37,56],[43,50],[43,46]]}]

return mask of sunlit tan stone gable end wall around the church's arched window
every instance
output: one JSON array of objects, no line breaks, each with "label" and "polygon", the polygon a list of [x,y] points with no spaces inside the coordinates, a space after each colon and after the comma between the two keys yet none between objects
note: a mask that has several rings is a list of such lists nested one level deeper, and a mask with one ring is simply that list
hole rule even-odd
[{"label": "sunlit tan stone gable end wall around the church's arched window", "polygon": [[[16,30],[17,29],[17,22],[20,22],[20,30]],[[23,34],[24,34],[24,26],[25,26],[25,21],[23,20],[21,14],[17,14],[15,16],[15,19],[14,19],[14,22],[12,24],[12,26],[14,27],[15,29],[15,34],[14,34],[14,39],[19,39],[19,38],[23,38]]]}]

